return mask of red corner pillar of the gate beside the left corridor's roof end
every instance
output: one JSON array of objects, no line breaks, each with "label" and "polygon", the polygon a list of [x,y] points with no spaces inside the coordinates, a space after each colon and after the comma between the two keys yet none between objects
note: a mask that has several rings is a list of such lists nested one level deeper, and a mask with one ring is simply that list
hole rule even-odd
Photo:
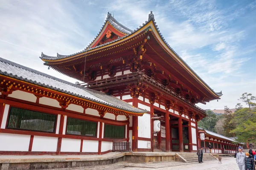
[{"label": "red corner pillar of the gate beside the left corridor's roof end", "polygon": [[[138,107],[138,98],[133,97],[132,98],[132,105],[134,107]],[[132,151],[137,152],[138,151],[138,116],[132,117]]]}]

